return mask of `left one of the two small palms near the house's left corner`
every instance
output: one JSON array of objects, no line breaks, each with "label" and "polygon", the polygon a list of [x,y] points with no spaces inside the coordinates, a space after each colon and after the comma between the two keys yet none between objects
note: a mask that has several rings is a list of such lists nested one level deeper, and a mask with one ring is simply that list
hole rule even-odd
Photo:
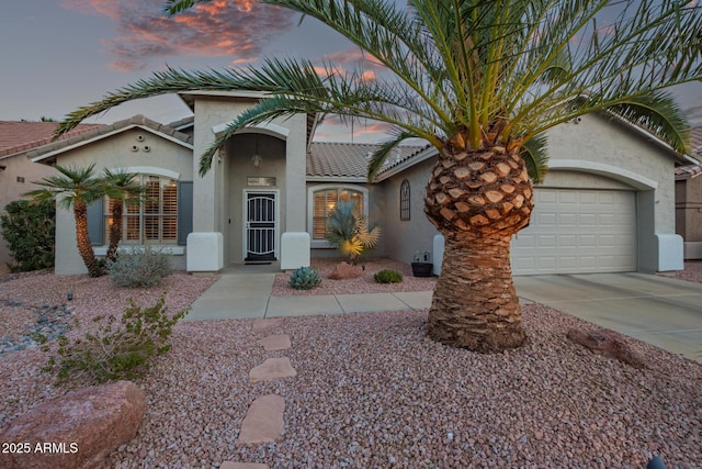
[{"label": "left one of the two small palms near the house's left corner", "polygon": [[102,268],[95,259],[92,250],[90,235],[88,234],[88,204],[99,200],[104,194],[103,183],[93,177],[94,164],[79,168],[76,166],[64,167],[54,165],[59,175],[34,181],[43,189],[35,189],[24,193],[36,201],[54,200],[65,210],[73,210],[76,220],[76,242],[78,253],[88,268],[90,277],[100,277]]}]

